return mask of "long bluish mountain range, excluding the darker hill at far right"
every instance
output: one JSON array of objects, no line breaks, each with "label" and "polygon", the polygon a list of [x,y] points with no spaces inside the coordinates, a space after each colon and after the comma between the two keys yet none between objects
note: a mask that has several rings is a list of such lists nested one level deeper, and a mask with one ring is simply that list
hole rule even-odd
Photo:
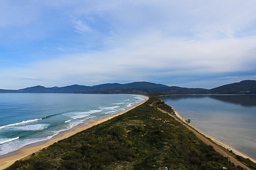
[{"label": "long bluish mountain range, excluding the darker hill at far right", "polygon": [[169,87],[150,82],[106,83],[96,86],[71,85],[65,87],[34,86],[19,90],[0,90],[0,93],[87,93],[87,94],[192,94],[208,89]]}]

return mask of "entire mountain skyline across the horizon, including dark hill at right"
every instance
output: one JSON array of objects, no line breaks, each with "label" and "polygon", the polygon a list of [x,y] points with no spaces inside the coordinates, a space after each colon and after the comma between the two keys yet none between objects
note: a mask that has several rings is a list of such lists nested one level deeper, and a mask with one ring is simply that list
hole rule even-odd
[{"label": "entire mountain skyline across the horizon, including dark hill at right", "polygon": [[65,87],[34,86],[0,93],[85,93],[85,94],[256,94],[256,80],[243,80],[213,89],[167,86],[150,82],[106,83],[96,86],[71,85]]}]

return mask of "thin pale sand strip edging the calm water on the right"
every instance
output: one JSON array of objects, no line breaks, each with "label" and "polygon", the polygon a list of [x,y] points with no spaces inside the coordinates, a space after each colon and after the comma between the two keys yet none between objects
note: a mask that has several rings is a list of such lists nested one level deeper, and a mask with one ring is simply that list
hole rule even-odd
[{"label": "thin pale sand strip edging the calm water on the right", "polygon": [[[174,108],[173,108],[173,109],[174,109]],[[179,114],[176,110],[174,110],[174,111],[175,111],[176,116],[177,116],[179,119],[183,120],[184,123],[186,123],[186,119],[184,119],[182,116],[180,116],[180,114]],[[211,136],[209,136],[209,135],[207,135],[207,134],[204,134],[202,131],[200,131],[199,129],[197,129],[196,127],[194,127],[193,125],[191,125],[190,123],[189,123],[188,125],[189,125],[190,127],[193,127],[193,128],[194,128],[195,130],[197,130],[200,134],[203,134],[204,136],[210,138],[212,141],[214,141],[216,144],[222,146],[223,148],[226,148],[226,149],[229,148],[229,150],[232,150],[232,152],[234,152],[236,155],[242,156],[242,157],[244,157],[244,158],[249,158],[252,162],[256,163],[256,160],[250,158],[249,156],[244,155],[243,153],[237,151],[236,149],[230,147],[229,145],[226,145],[226,144],[224,144],[223,142],[218,141],[218,140],[215,139],[214,137],[211,137]]]}]

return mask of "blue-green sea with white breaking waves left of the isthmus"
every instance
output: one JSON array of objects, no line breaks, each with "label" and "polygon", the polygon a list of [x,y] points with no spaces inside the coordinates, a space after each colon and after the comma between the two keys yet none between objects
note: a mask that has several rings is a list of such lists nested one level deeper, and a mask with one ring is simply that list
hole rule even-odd
[{"label": "blue-green sea with white breaking waves left of the isthmus", "polygon": [[1,94],[0,157],[145,100],[126,94]]}]

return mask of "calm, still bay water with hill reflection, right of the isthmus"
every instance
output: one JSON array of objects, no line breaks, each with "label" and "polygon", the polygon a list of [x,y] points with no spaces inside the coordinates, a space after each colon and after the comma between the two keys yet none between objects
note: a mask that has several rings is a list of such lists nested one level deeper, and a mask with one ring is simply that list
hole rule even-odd
[{"label": "calm, still bay water with hill reflection, right of the isthmus", "polygon": [[256,95],[161,97],[191,124],[256,160]]}]

